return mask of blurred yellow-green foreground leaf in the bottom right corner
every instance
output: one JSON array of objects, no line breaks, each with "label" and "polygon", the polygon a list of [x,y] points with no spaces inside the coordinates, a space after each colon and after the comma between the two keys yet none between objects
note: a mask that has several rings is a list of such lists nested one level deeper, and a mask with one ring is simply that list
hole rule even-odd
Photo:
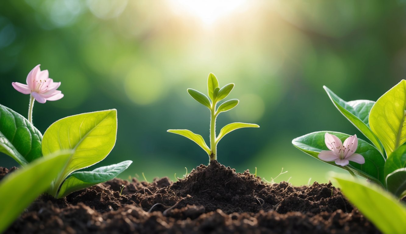
[{"label": "blurred yellow-green foreground leaf in the bottom right corner", "polygon": [[348,176],[333,178],[340,189],[384,234],[403,234],[406,230],[406,207],[387,191],[375,184],[355,181]]}]

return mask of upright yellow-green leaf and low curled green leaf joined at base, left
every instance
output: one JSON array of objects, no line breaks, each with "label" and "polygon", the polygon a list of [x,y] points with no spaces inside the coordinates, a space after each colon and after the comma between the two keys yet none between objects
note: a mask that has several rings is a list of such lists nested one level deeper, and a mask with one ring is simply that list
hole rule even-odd
[{"label": "upright yellow-green leaf and low curled green leaf joined at base, left", "polygon": [[[125,170],[131,161],[101,167],[91,172],[72,173],[106,158],[114,147],[116,135],[115,109],[73,115],[52,124],[43,136],[44,157],[67,149],[72,150],[72,155],[67,166],[52,183],[50,193],[55,197],[64,197],[73,191],[110,180]],[[71,173],[72,176],[65,180]]]}]

